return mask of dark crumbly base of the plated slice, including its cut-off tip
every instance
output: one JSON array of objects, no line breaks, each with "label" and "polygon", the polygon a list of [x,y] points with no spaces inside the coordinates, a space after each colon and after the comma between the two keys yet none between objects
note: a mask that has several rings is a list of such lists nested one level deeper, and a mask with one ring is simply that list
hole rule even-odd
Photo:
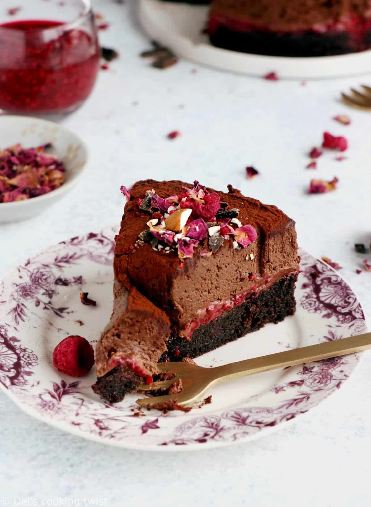
[{"label": "dark crumbly base of the plated slice, including its cut-off tip", "polygon": [[[166,342],[167,352],[162,354],[163,361],[181,361],[184,357],[197,357],[210,352],[221,345],[262,328],[269,322],[280,322],[295,313],[295,283],[297,274],[280,278],[266,291],[256,297],[250,297],[239,306],[224,315],[201,325],[191,337],[170,337]],[[98,378],[92,386],[96,394],[100,394],[110,403],[123,400],[124,395],[138,387],[142,378],[128,370],[117,366],[104,377]]]}]

